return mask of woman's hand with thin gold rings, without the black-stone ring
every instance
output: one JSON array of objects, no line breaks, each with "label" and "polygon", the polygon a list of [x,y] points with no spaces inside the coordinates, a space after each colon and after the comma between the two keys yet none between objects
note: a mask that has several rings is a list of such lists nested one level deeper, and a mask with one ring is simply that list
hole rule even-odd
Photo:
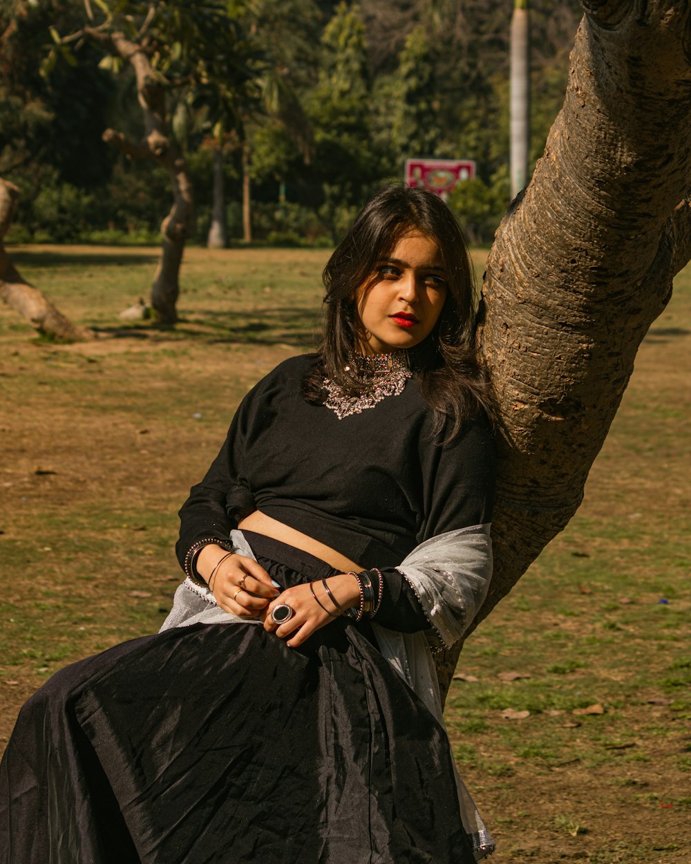
[{"label": "woman's hand with thin gold rings, without the black-stone ring", "polygon": [[209,583],[219,607],[241,618],[257,618],[269,600],[281,593],[261,564],[235,552],[228,555],[227,550],[215,543],[200,551],[196,568]]}]

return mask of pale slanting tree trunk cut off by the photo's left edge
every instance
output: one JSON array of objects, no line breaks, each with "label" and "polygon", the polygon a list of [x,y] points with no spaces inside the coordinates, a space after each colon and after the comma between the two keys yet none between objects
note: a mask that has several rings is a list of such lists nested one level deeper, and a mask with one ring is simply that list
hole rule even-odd
[{"label": "pale slanting tree trunk cut off by the photo's left edge", "polygon": [[26,282],[10,261],[3,241],[10,231],[18,200],[19,189],[0,178],[0,298],[41,333],[69,342],[93,339],[92,330],[76,327],[39,289]]}]

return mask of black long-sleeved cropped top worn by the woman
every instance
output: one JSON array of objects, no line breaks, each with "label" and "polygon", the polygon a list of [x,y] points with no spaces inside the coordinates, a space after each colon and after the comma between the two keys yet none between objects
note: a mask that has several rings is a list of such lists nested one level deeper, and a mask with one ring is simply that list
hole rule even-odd
[{"label": "black long-sleeved cropped top worn by the woman", "polygon": [[484,416],[443,443],[449,430],[432,435],[413,377],[400,396],[339,420],[301,395],[313,363],[288,359],[244,397],[181,508],[181,564],[195,541],[226,539],[255,510],[379,569],[429,537],[490,521],[496,459]]}]

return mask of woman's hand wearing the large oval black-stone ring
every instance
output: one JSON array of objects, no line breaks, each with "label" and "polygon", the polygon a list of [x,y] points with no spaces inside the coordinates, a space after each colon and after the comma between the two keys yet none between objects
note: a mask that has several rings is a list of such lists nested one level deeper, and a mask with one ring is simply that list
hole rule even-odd
[{"label": "woman's hand wearing the large oval black-stone ring", "polygon": [[[360,592],[358,588],[358,580],[351,573],[340,573],[339,575],[329,576],[326,583],[336,598],[339,604],[344,609],[356,606],[359,600]],[[293,588],[286,588],[274,600],[271,600],[269,606],[263,610],[260,618],[264,622],[264,630],[267,632],[275,632],[280,638],[287,638],[289,648],[297,648],[298,645],[309,638],[314,632],[339,617],[339,611],[333,606],[333,602],[324,590],[324,586],[320,580],[312,583],[314,593],[324,604],[330,615],[325,609],[320,607],[319,603],[314,600],[309,584],[295,585]],[[282,624],[276,624],[271,618],[271,612],[277,606],[284,603],[289,606],[294,614]],[[293,634],[291,636],[291,633]]]}]

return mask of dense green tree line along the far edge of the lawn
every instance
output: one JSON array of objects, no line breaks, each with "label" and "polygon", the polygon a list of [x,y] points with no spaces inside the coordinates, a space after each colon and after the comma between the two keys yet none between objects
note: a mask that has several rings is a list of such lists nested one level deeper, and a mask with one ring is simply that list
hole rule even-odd
[{"label": "dense green tree line along the far edge of the lawn", "polygon": [[[510,0],[92,0],[92,29],[116,5],[138,27],[155,10],[152,38],[167,43],[155,73],[193,187],[193,242],[206,242],[214,170],[231,238],[330,245],[409,156],[477,162],[451,203],[472,241],[491,241],[509,199]],[[576,0],[531,9],[532,162],[579,17]],[[10,241],[156,242],[170,209],[168,170],[103,140],[141,137],[142,107],[122,58],[95,37],[65,41],[85,25],[83,0],[0,10],[0,176],[21,194]]]}]

